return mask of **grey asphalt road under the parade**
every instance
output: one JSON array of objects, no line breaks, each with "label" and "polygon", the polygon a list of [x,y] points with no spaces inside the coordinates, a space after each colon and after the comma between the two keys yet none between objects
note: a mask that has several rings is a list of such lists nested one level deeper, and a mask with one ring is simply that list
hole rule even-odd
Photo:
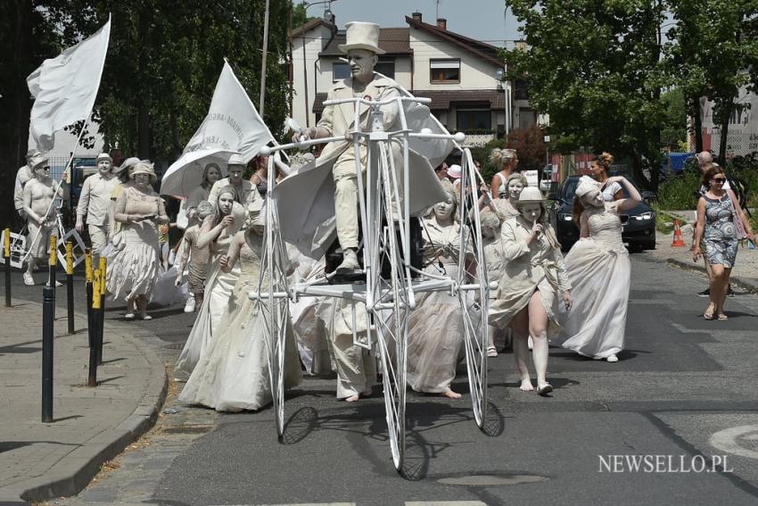
[{"label": "grey asphalt road under the parade", "polygon": [[[729,321],[704,321],[703,278],[645,253],[632,255],[632,273],[619,362],[552,348],[556,390],[541,398],[518,390],[501,354],[483,432],[465,368],[460,401],[408,394],[406,477],[392,468],[381,389],[347,404],[334,379],[307,378],[287,402],[283,443],[270,409],[217,416],[169,402],[174,430],[68,503],[755,504],[758,297],[729,299]],[[166,314],[160,346],[185,327],[185,315]],[[655,472],[634,470],[642,458]]]}]

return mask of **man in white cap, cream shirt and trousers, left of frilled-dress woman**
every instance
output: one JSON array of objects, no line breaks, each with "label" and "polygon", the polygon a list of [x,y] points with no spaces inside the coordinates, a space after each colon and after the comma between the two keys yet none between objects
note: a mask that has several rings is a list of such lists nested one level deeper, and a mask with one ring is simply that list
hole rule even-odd
[{"label": "man in white cap, cream shirt and trousers, left of frilled-dress woman", "polygon": [[84,231],[87,221],[89,240],[92,242],[92,261],[100,260],[100,252],[108,245],[108,211],[111,195],[118,179],[112,171],[112,159],[108,153],[100,153],[95,160],[97,173],[84,180],[77,206],[77,232]]}]

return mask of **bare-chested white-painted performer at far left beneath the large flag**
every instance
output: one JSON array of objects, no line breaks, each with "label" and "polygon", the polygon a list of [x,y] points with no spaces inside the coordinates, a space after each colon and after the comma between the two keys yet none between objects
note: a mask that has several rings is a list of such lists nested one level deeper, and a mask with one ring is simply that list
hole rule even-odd
[{"label": "bare-chested white-painted performer at far left beneath the large flag", "polygon": [[[58,223],[58,210],[53,203],[56,196],[57,184],[50,177],[50,165],[45,156],[39,155],[33,159],[31,167],[34,178],[24,185],[23,211],[27,216],[29,227],[29,242],[27,248],[27,270],[24,272],[24,285],[33,286],[32,271],[37,262],[49,259],[50,234]],[[57,196],[63,196],[63,188],[58,187]]]}]

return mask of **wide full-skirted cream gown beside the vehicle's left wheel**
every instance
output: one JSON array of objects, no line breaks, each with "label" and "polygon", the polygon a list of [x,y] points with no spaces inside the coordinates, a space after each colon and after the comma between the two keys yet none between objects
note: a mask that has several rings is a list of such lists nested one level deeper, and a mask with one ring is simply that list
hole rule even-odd
[{"label": "wide full-skirted cream gown beside the vehicle's left wheel", "polygon": [[[260,410],[271,402],[264,306],[247,294],[258,289],[262,237],[246,234],[241,275],[218,323],[216,336],[195,366],[179,401],[216,411]],[[265,310],[264,310],[265,311]],[[301,367],[292,326],[284,346],[284,387],[300,384]],[[276,380],[276,378],[275,378]]]}]

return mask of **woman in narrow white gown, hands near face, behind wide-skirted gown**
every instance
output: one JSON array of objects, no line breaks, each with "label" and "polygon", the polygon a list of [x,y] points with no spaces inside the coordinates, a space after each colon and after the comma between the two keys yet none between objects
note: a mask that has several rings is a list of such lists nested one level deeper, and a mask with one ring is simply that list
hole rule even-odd
[{"label": "woman in narrow white gown, hands near face, behind wide-skirted gown", "polygon": [[218,332],[218,321],[239,278],[239,270],[224,272],[220,269],[221,256],[227,253],[232,237],[243,228],[247,218],[243,206],[235,202],[235,195],[234,188],[222,188],[215,202],[215,214],[202,222],[197,247],[210,246],[210,267],[202,306],[177,361],[177,367],[185,372],[193,371],[210,340]]}]

